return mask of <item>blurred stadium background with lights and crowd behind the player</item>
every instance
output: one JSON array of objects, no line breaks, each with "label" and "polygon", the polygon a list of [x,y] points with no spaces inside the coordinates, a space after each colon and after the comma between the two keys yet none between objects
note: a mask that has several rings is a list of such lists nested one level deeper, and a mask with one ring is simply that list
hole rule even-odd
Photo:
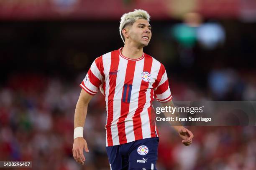
[{"label": "blurred stadium background with lights and crowd behind the player", "polygon": [[[0,160],[36,170],[108,170],[105,102],[90,102],[84,166],[72,157],[74,108],[92,61],[123,46],[123,13],[147,10],[144,51],[174,100],[256,100],[255,0],[0,0]],[[158,170],[255,170],[256,128],[188,127],[185,147],[158,122]]]}]

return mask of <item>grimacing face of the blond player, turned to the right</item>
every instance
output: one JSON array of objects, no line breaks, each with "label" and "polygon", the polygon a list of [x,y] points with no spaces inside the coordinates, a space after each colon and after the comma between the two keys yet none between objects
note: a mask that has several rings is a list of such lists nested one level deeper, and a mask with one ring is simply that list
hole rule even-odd
[{"label": "grimacing face of the blond player, turned to the right", "polygon": [[138,19],[128,28],[127,36],[128,40],[131,40],[138,47],[145,47],[148,45],[152,36],[151,26],[147,20]]}]

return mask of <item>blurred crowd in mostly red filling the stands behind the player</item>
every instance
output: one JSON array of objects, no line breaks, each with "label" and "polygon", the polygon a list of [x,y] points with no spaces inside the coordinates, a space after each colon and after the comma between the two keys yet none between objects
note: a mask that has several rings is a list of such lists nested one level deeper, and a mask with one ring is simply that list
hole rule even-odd
[{"label": "blurred crowd in mostly red filling the stands behind the player", "polygon": [[[74,109],[84,75],[77,76],[73,82],[44,75],[10,77],[8,86],[0,88],[0,160],[33,161],[33,169],[37,170],[109,169],[105,151],[105,101],[100,93],[90,102],[85,122],[84,137],[90,150],[85,153],[85,165],[77,164],[72,156]],[[255,100],[253,77],[250,79],[247,75],[247,81],[242,81],[239,75],[224,70],[209,74],[209,92],[170,80],[174,100],[215,100],[219,94],[226,94],[225,99],[229,94],[225,91],[226,85],[215,87],[212,84],[212,79],[218,81],[224,77],[226,80],[225,76],[229,77],[226,85],[233,87],[228,90],[242,83],[240,99]],[[256,168],[255,126],[188,127],[195,138],[192,145],[186,147],[167,122],[157,123],[160,133],[158,170]]]}]

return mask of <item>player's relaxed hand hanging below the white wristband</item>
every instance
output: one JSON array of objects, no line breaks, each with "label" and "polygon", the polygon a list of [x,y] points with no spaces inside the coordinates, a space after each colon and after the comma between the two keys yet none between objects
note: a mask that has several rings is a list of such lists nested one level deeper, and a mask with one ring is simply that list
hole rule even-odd
[{"label": "player's relaxed hand hanging below the white wristband", "polygon": [[78,137],[74,139],[74,144],[73,144],[73,157],[77,161],[77,163],[84,165],[84,153],[89,152],[88,147],[87,147],[87,142],[84,138]]}]

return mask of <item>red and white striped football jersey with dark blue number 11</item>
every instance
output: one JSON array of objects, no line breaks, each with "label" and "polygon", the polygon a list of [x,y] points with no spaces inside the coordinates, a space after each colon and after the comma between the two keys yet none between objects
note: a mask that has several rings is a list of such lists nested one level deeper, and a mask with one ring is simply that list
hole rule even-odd
[{"label": "red and white striped football jersey with dark blue number 11", "polygon": [[145,53],[127,58],[121,49],[96,58],[80,85],[105,96],[106,146],[159,136],[152,102],[172,100],[164,65]]}]

